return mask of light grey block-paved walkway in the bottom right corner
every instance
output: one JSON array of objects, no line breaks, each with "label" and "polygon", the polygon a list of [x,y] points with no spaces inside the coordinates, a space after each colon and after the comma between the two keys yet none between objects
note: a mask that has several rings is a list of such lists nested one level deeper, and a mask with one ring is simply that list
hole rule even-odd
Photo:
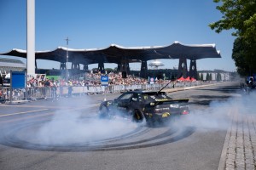
[{"label": "light grey block-paved walkway in the bottom right corner", "polygon": [[256,115],[233,115],[218,170],[256,169]]}]

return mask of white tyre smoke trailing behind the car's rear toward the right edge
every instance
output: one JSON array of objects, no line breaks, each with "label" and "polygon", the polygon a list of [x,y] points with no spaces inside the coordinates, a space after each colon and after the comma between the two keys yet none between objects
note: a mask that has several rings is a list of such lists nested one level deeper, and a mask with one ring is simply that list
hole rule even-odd
[{"label": "white tyre smoke trailing behind the car's rear toward the right edge", "polygon": [[173,122],[174,126],[196,127],[197,130],[226,130],[237,114],[255,114],[256,93],[249,95],[235,94],[227,100],[212,101],[209,106],[201,109],[190,108],[189,115],[182,116]]}]

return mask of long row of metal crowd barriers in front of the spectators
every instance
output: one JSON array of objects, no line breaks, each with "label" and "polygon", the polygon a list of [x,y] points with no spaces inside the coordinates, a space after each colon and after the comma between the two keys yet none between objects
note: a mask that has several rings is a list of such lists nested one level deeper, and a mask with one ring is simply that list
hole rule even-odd
[{"label": "long row of metal crowd barriers in front of the spectators", "polygon": [[[215,83],[215,82],[211,82]],[[206,82],[175,82],[170,83],[166,88],[185,88],[199,86]],[[71,97],[73,95],[95,95],[95,94],[112,94],[131,91],[136,89],[143,90],[159,90],[166,86],[162,84],[133,84],[133,85],[109,85],[109,86],[74,86],[74,87],[36,87],[36,88],[15,88],[10,91],[10,88],[0,87],[0,102],[6,100],[38,100],[38,99],[57,99],[59,97]]]}]

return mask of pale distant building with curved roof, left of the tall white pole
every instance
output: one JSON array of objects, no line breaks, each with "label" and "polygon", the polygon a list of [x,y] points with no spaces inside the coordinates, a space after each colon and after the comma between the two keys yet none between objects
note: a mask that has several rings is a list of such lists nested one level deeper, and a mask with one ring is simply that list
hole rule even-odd
[{"label": "pale distant building with curved roof, left of the tall white pole", "polygon": [[5,76],[10,71],[25,71],[26,64],[20,59],[0,58],[0,75]]}]

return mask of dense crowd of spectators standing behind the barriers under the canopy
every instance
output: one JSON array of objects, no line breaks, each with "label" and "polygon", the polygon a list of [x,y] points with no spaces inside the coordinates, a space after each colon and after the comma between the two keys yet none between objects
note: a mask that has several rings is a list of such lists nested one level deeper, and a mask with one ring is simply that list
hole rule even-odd
[{"label": "dense crowd of spectators standing behind the barriers under the canopy", "polygon": [[[59,90],[60,94],[63,92],[63,88],[67,87],[68,90],[67,96],[72,96],[73,87],[86,87],[89,89],[89,87],[101,87],[101,77],[102,76],[108,76],[108,85],[109,87],[113,87],[116,85],[136,85],[136,84],[148,84],[148,79],[144,79],[141,77],[135,77],[132,75],[126,75],[126,78],[122,77],[122,73],[114,73],[110,72],[108,74],[102,74],[100,72],[98,73],[84,73],[82,77],[79,78],[70,78],[68,80],[66,79],[54,79],[54,78],[47,78],[42,76],[38,77],[27,77],[26,82],[26,88],[28,89],[28,95],[32,96],[33,93],[35,93],[35,90],[41,89],[41,94],[43,93],[44,96],[46,96],[49,89],[54,92]],[[156,80],[154,83],[167,83],[169,81],[164,80]],[[48,89],[49,88],[49,89]],[[110,89],[109,88],[109,89]],[[0,89],[0,97],[6,98],[6,96],[9,96],[9,89],[8,88],[1,88]],[[18,96],[19,94],[25,94],[25,89],[19,89],[18,90]],[[50,93],[52,94],[52,93]],[[56,95],[56,94],[55,94]],[[17,96],[17,95],[15,95]]]}]

